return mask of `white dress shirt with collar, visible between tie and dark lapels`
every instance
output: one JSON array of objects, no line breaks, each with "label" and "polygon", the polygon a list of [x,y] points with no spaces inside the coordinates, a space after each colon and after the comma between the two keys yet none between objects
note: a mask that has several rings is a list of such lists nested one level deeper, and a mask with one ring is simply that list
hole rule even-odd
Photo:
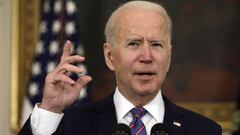
[{"label": "white dress shirt with collar, visible between tie and dark lapels", "polygon": [[[130,110],[135,106],[129,102],[117,88],[113,95],[113,101],[117,113],[117,122],[129,125],[133,119]],[[147,135],[150,135],[153,125],[163,123],[165,106],[161,90],[159,90],[156,97],[150,103],[143,106],[143,108],[147,110],[147,113],[141,118],[141,120],[145,125]]]}]

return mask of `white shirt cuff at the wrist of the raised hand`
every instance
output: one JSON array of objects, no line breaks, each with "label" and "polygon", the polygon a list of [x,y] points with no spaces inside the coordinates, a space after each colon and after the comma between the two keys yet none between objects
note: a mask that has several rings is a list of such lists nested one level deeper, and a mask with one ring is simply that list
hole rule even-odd
[{"label": "white shirt cuff at the wrist of the raised hand", "polygon": [[34,106],[30,117],[31,128],[34,135],[51,135],[57,130],[63,113],[54,113]]}]

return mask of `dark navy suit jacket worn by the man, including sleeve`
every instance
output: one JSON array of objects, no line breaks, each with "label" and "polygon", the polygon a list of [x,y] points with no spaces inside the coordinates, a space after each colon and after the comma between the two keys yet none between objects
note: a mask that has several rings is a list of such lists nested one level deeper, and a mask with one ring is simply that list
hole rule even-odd
[{"label": "dark navy suit jacket worn by the man, including sleeve", "polygon": [[[208,118],[181,108],[163,96],[164,124],[169,135],[221,135],[222,129]],[[176,126],[174,122],[180,123]],[[117,124],[113,95],[86,106],[73,106],[64,111],[64,117],[54,135],[111,135]],[[20,135],[32,135],[30,119]]]}]

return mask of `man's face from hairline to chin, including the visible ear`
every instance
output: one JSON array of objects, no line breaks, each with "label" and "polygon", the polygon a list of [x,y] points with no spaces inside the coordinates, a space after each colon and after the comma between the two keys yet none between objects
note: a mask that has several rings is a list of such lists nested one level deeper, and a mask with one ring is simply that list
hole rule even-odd
[{"label": "man's face from hairline to chin, including the visible ear", "polygon": [[155,96],[171,59],[164,18],[156,11],[142,9],[125,9],[118,18],[116,43],[104,46],[106,63],[127,98]]}]

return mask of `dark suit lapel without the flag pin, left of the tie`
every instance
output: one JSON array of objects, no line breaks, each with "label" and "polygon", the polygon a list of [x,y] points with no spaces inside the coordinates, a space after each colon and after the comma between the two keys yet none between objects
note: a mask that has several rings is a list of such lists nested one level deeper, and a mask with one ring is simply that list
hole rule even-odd
[{"label": "dark suit lapel without the flag pin, left of the tie", "polygon": [[92,124],[98,135],[110,135],[117,124],[113,95],[97,103],[93,108]]}]

